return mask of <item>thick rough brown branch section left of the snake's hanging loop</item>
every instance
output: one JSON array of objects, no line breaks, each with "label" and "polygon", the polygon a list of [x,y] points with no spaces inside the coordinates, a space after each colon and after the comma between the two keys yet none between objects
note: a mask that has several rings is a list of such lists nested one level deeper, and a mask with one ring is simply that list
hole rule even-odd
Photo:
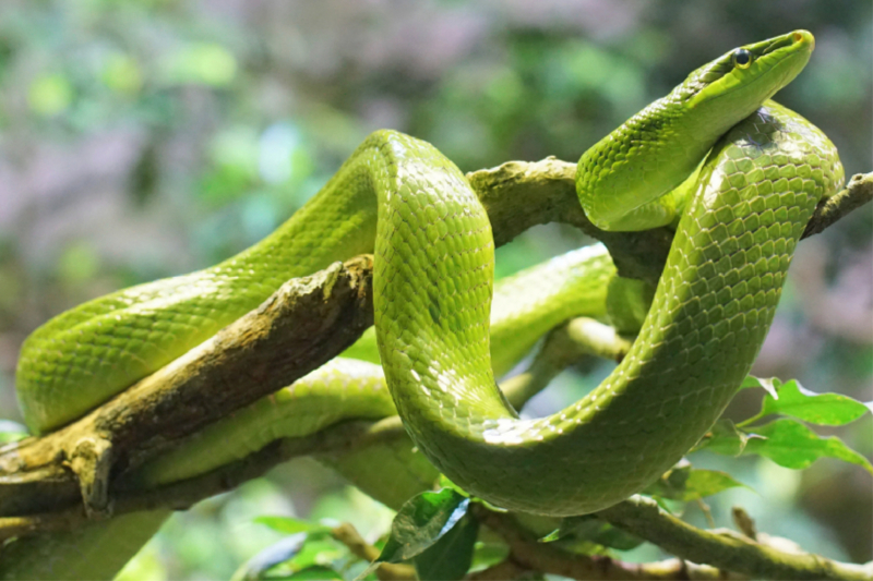
[{"label": "thick rough brown branch section left of the snake's hanging loop", "polygon": [[137,465],[350,346],[372,325],[371,279],[372,262],[361,257],[291,280],[82,420],[3,448],[0,511],[52,510],[75,501],[80,485],[87,508],[107,510],[110,470]]}]

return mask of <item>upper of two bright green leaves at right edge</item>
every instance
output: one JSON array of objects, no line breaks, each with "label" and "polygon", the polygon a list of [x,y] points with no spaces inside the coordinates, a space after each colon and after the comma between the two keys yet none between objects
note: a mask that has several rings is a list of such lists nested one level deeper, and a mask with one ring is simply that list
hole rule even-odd
[{"label": "upper of two bright green leaves at right edge", "polygon": [[844,425],[854,422],[870,410],[860,401],[839,394],[815,394],[804,389],[796,379],[781,383],[773,379],[775,394],[768,394],[755,417],[782,414],[817,425]]}]

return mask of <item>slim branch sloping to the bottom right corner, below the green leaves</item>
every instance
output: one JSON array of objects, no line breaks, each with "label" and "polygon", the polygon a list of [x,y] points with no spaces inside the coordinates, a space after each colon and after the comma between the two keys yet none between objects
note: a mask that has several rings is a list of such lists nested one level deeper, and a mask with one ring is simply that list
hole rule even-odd
[{"label": "slim branch sloping to the bottom right corner, below the green leaves", "polygon": [[838,562],[809,553],[786,553],[731,531],[704,531],[641,497],[598,516],[680,558],[757,579],[873,579],[873,562]]}]

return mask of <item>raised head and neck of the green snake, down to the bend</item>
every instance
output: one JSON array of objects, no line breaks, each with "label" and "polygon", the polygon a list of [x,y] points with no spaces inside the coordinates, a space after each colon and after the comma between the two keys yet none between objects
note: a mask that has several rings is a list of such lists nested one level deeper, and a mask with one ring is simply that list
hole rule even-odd
[{"label": "raised head and neck of the green snake, down to the bend", "polygon": [[586,216],[613,231],[671,223],[675,203],[665,194],[731,126],[791,82],[814,46],[809,32],[794,31],[744,47],[745,65],[731,51],[598,142],[583,154],[576,173]]}]

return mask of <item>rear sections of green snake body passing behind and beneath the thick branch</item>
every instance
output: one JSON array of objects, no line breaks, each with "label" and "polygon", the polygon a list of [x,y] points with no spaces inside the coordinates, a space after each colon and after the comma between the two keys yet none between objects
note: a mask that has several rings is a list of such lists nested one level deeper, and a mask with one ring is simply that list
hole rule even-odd
[{"label": "rear sections of green snake body passing behind and beneath the thick branch", "polygon": [[[574,316],[603,318],[608,281],[614,274],[609,253],[596,244],[500,280],[491,313],[495,375],[509,371],[561,322]],[[207,426],[130,480],[145,488],[176,482],[242,459],[279,437],[307,436],[343,420],[395,415],[382,367],[375,364],[374,334],[368,331],[343,355]],[[343,406],[336,406],[338,398]],[[439,475],[407,438],[321,461],[394,509],[431,488]],[[391,479],[384,477],[386,470]],[[168,510],[123,515],[68,533],[20,540],[0,552],[0,579],[110,579],[169,515]]]}]

